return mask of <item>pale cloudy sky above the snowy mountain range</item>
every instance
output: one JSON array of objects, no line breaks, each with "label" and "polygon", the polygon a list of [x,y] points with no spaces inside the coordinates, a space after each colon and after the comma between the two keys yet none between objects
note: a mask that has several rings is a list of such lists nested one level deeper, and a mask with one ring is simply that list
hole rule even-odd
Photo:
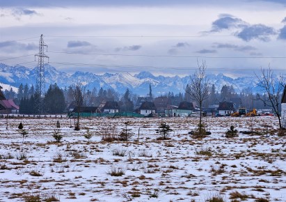
[{"label": "pale cloudy sky above the snowy mountain range", "polygon": [[0,0],[0,63],[35,67],[40,35],[65,72],[286,73],[286,1]]}]

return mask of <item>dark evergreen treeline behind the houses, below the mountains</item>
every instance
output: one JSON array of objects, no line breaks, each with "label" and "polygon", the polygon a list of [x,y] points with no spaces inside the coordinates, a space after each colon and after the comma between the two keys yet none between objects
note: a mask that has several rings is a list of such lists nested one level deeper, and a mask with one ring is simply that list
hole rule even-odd
[{"label": "dark evergreen treeline behind the houses, below the mountains", "polygon": [[[189,89],[186,86],[186,89]],[[57,84],[52,84],[49,86],[44,102],[44,111],[46,114],[62,114],[67,111],[67,107],[74,101],[72,86],[65,87],[63,89],[59,88]],[[124,94],[120,94],[113,89],[103,89],[100,88],[97,91],[97,88],[92,90],[86,90],[86,100],[84,106],[93,106],[98,107],[105,101],[116,101],[118,102],[121,111],[133,111],[138,95],[132,93],[127,89]],[[35,94],[35,88],[33,85],[20,84],[18,92],[16,93],[10,88],[10,91],[3,92],[7,99],[13,99],[16,104],[19,105],[20,114],[38,114],[37,106],[35,105],[35,100],[37,95]],[[150,95],[152,97],[152,89],[150,87]],[[150,96],[149,94],[147,96]],[[173,92],[168,92],[166,95],[168,98],[171,98],[172,104],[178,106],[180,102],[187,101],[192,102],[189,93],[178,93],[174,94]],[[267,109],[267,106],[264,105],[262,100],[259,100],[258,97],[264,97],[264,95],[255,94],[251,91],[251,88],[246,88],[241,93],[236,93],[233,86],[224,85],[219,91],[217,91],[216,86],[212,85],[211,92],[207,102],[205,102],[203,107],[209,107],[211,104],[219,104],[221,101],[230,101],[236,102],[239,104],[237,107],[246,107],[252,109],[253,107],[257,109]],[[267,98],[265,98],[267,99]]]}]

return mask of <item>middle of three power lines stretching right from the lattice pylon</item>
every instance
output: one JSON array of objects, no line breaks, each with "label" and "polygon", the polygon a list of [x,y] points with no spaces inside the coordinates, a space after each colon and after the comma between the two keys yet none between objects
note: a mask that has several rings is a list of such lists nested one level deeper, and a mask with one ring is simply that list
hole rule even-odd
[{"label": "middle of three power lines stretching right from the lattice pylon", "polygon": [[205,59],[286,59],[286,56],[169,56],[169,55],[146,55],[146,54],[100,54],[100,53],[74,53],[74,52],[49,52],[49,53],[100,55],[100,56],[145,56],[145,57],[205,58]]}]

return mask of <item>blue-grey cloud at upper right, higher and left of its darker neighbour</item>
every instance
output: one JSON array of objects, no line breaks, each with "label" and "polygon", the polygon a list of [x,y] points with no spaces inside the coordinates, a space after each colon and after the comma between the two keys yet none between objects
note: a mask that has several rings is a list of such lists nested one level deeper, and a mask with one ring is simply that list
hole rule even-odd
[{"label": "blue-grey cloud at upper right, higher and left of its darker neighbour", "polygon": [[225,29],[239,28],[246,26],[246,22],[229,14],[219,15],[219,19],[212,22],[210,32],[218,32]]}]

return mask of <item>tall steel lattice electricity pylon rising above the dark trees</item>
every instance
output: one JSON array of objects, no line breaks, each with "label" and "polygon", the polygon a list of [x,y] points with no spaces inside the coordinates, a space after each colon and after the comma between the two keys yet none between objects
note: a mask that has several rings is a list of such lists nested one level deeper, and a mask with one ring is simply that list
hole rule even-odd
[{"label": "tall steel lattice electricity pylon rising above the dark trees", "polygon": [[39,42],[39,53],[35,54],[35,56],[38,56],[37,78],[35,81],[35,109],[38,111],[39,115],[42,113],[43,98],[46,92],[44,59],[49,59],[49,56],[44,53],[44,47],[47,47],[47,45],[45,44],[44,38],[41,35]]}]

